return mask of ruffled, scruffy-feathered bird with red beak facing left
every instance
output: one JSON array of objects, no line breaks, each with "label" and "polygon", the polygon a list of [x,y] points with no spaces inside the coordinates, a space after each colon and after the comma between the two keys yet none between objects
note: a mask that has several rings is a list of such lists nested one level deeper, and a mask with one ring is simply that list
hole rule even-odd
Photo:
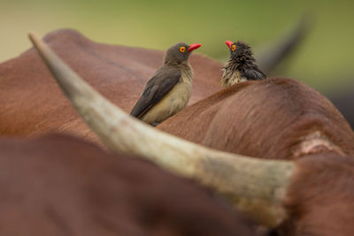
[{"label": "ruffled, scruffy-feathered bird with red beak facing left", "polygon": [[220,83],[223,88],[246,80],[263,80],[266,74],[261,72],[256,65],[256,59],[253,57],[252,49],[244,42],[227,41],[230,49],[230,58],[227,64],[222,67],[224,72]]}]

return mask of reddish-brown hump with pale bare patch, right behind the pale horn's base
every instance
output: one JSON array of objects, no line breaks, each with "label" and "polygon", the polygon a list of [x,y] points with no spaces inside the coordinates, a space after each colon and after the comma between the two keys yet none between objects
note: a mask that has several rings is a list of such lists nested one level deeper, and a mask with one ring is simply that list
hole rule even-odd
[{"label": "reddish-brown hump with pale bare patch, right behind the pale horn's base", "polygon": [[342,114],[325,96],[290,79],[242,82],[158,128],[245,156],[293,159],[327,150],[354,155],[354,133]]}]

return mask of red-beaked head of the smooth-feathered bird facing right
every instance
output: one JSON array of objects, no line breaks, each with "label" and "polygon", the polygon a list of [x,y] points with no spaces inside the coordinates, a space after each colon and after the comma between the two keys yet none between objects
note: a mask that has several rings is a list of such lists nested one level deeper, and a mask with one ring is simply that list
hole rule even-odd
[{"label": "red-beaked head of the smooth-feathered bird facing right", "polygon": [[198,49],[200,46],[202,46],[200,43],[193,43],[190,45],[184,42],[176,43],[165,52],[164,63],[181,64],[182,62],[187,61],[190,53],[193,50]]}]

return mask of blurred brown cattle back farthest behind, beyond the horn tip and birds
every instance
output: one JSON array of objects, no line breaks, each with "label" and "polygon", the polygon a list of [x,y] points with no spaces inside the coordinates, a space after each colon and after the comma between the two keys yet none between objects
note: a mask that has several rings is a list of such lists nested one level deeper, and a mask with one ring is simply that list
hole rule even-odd
[{"label": "blurred brown cattle back farthest behind, beyond the horn tip and birds", "polygon": [[[74,30],[44,37],[58,56],[96,90],[127,112],[150,76],[162,65],[163,51],[92,42]],[[195,77],[189,103],[220,89],[220,65],[211,58],[189,58]],[[72,133],[97,141],[66,100],[35,49],[0,65],[0,134],[33,136]]]}]

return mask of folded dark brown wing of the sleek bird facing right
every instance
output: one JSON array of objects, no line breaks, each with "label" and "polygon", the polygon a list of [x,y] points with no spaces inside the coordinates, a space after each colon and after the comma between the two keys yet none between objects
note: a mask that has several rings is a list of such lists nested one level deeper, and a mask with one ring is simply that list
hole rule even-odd
[{"label": "folded dark brown wing of the sleek bird facing right", "polygon": [[146,84],[141,97],[136,102],[130,115],[141,118],[147,111],[157,104],[181,78],[177,69],[157,72]]}]

